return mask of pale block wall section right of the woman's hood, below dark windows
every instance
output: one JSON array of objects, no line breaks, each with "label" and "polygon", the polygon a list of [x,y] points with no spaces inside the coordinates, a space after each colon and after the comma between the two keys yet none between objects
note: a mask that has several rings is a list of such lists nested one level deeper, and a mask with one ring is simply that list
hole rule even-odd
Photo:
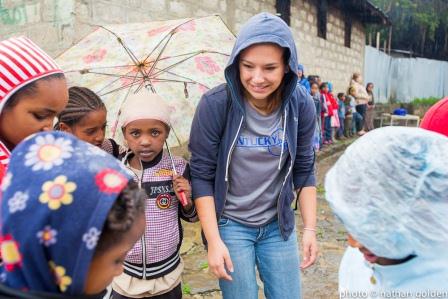
[{"label": "pale block wall section right of the woman's hood, below dark windows", "polygon": [[351,47],[345,47],[345,25],[342,12],[329,9],[327,39],[317,35],[317,7],[311,0],[293,1],[291,29],[296,38],[299,60],[305,75],[319,75],[330,81],[334,93],[346,92],[354,72],[364,70],[364,27],[359,21],[352,23]]}]

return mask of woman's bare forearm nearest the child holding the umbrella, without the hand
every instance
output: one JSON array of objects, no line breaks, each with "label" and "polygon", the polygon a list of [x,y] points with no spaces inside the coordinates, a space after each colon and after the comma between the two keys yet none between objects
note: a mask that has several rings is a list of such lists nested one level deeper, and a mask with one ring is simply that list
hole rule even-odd
[{"label": "woman's bare forearm nearest the child holding the umbrella, without the hand", "polygon": [[194,201],[194,204],[207,242],[212,243],[219,240],[220,236],[213,197],[199,197]]}]

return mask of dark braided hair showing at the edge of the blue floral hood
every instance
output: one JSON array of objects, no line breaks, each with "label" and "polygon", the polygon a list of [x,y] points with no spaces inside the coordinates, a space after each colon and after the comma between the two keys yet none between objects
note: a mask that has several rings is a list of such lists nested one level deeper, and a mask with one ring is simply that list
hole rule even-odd
[{"label": "dark braided hair showing at the edge of the blue floral hood", "polygon": [[96,254],[104,253],[110,247],[120,243],[136,220],[144,215],[145,198],[146,193],[138,187],[137,183],[130,181],[121,191],[107,215],[96,247]]}]

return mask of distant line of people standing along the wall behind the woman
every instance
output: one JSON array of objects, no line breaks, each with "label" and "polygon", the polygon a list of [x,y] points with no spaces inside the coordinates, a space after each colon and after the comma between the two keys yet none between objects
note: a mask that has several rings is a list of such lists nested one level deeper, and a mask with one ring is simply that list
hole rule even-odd
[{"label": "distant line of people standing along the wall behind the woman", "polygon": [[[368,83],[365,89],[365,93],[368,94],[366,105],[368,107],[363,111],[361,106],[364,106],[364,103],[359,99],[365,96],[361,95],[352,84],[347,94],[340,92],[335,97],[331,82],[322,82],[319,76],[314,75],[305,77],[303,65],[299,65],[298,69],[298,85],[303,86],[311,94],[316,107],[317,125],[314,137],[316,151],[324,145],[333,144],[336,139],[361,136],[366,131],[373,130],[373,83]],[[355,73],[352,82],[360,81],[360,77]]]}]

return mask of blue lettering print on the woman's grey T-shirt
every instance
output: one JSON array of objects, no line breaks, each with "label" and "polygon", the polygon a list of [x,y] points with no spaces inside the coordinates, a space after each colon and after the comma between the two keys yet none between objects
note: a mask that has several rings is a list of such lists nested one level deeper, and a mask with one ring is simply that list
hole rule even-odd
[{"label": "blue lettering print on the woman's grey T-shirt", "polygon": [[[283,142],[283,129],[278,128],[271,136],[247,136],[242,133],[238,137],[236,147],[239,148],[265,148],[271,155],[280,156]],[[288,150],[288,141],[284,141],[283,152]]]}]

